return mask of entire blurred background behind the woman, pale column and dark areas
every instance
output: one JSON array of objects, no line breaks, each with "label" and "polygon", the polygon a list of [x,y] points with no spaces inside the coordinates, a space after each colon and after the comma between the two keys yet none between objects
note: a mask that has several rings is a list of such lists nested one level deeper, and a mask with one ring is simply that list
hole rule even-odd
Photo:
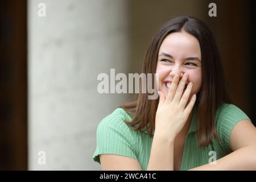
[{"label": "entire blurred background behind the woman, pale column and dark areas", "polygon": [[[211,2],[217,17],[208,15]],[[98,74],[140,73],[152,36],[178,15],[208,24],[228,92],[255,125],[255,7],[255,1],[1,0],[0,169],[100,170],[92,159],[97,125],[135,97],[99,94]]]}]

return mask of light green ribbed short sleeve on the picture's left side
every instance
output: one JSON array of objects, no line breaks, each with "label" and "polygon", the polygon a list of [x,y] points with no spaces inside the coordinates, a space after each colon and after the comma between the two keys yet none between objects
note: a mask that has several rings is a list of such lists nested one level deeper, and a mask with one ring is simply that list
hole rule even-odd
[{"label": "light green ribbed short sleeve on the picture's left side", "polygon": [[137,159],[134,148],[134,132],[124,121],[127,113],[117,108],[99,123],[97,146],[93,160],[100,163],[100,154],[115,154]]}]

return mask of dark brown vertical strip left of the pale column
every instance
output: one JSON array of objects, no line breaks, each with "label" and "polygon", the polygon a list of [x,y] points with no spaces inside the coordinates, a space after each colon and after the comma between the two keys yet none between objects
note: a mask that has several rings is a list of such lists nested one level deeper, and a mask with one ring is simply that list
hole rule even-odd
[{"label": "dark brown vertical strip left of the pale column", "polygon": [[0,170],[27,169],[27,4],[0,1]]}]

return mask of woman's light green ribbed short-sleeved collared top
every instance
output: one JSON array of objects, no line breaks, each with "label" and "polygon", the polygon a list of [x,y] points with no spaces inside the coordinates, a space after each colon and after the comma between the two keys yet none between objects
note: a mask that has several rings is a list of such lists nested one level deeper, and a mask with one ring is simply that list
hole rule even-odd
[{"label": "woman's light green ribbed short-sleeved collared top", "polygon": [[[199,147],[197,142],[195,113],[196,107],[194,106],[191,125],[185,139],[180,170],[208,164],[210,157],[213,156],[209,153],[210,151],[216,152],[217,159],[228,155],[232,152],[229,139],[233,127],[242,119],[250,120],[237,106],[222,104],[216,112],[218,142],[213,138],[213,144],[209,144],[203,149]],[[138,160],[142,170],[146,170],[153,138],[148,135],[147,131],[132,130],[123,122],[123,119],[131,121],[131,117],[121,108],[115,109],[112,114],[102,119],[97,127],[97,147],[93,160],[100,163],[100,154],[122,155]]]}]

